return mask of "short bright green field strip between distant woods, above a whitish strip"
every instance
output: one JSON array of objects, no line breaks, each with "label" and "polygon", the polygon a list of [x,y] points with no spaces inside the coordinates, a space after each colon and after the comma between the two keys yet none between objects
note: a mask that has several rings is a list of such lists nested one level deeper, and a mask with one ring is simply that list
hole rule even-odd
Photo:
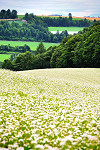
[{"label": "short bright green field strip between distant woods, above a whitish strip", "polygon": [[48,27],[49,31],[81,31],[84,27]]}]

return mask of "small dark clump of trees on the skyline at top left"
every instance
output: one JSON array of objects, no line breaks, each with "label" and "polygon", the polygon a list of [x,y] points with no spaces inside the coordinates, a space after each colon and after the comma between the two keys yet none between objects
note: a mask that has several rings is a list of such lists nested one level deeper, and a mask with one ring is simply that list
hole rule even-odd
[{"label": "small dark clump of trees on the skyline at top left", "polygon": [[2,9],[0,11],[0,19],[15,19],[17,18],[17,11],[16,10],[5,10],[5,9]]}]

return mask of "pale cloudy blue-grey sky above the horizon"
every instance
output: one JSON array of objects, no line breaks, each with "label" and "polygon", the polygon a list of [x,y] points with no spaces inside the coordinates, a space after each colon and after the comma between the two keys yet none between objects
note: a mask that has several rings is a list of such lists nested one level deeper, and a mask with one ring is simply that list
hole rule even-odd
[{"label": "pale cloudy blue-grey sky above the horizon", "polygon": [[18,14],[60,14],[100,16],[100,0],[0,0],[0,10],[17,10]]}]

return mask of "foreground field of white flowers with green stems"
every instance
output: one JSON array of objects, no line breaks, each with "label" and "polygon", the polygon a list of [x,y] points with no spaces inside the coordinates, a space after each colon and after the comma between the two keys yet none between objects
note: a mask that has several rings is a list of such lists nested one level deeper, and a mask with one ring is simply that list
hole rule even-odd
[{"label": "foreground field of white flowers with green stems", "polygon": [[3,148],[99,150],[100,69],[1,69]]}]

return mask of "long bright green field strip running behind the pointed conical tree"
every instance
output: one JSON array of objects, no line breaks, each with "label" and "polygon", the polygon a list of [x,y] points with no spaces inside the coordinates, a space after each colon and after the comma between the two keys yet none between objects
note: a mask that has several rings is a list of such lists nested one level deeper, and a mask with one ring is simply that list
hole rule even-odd
[{"label": "long bright green field strip running behind the pointed conical tree", "polygon": [[[31,50],[35,51],[40,42],[25,42],[25,41],[0,41],[0,45],[8,45],[11,46],[23,46],[27,44]],[[43,42],[45,48],[49,48],[50,46],[57,46],[57,43],[46,43]]]}]

